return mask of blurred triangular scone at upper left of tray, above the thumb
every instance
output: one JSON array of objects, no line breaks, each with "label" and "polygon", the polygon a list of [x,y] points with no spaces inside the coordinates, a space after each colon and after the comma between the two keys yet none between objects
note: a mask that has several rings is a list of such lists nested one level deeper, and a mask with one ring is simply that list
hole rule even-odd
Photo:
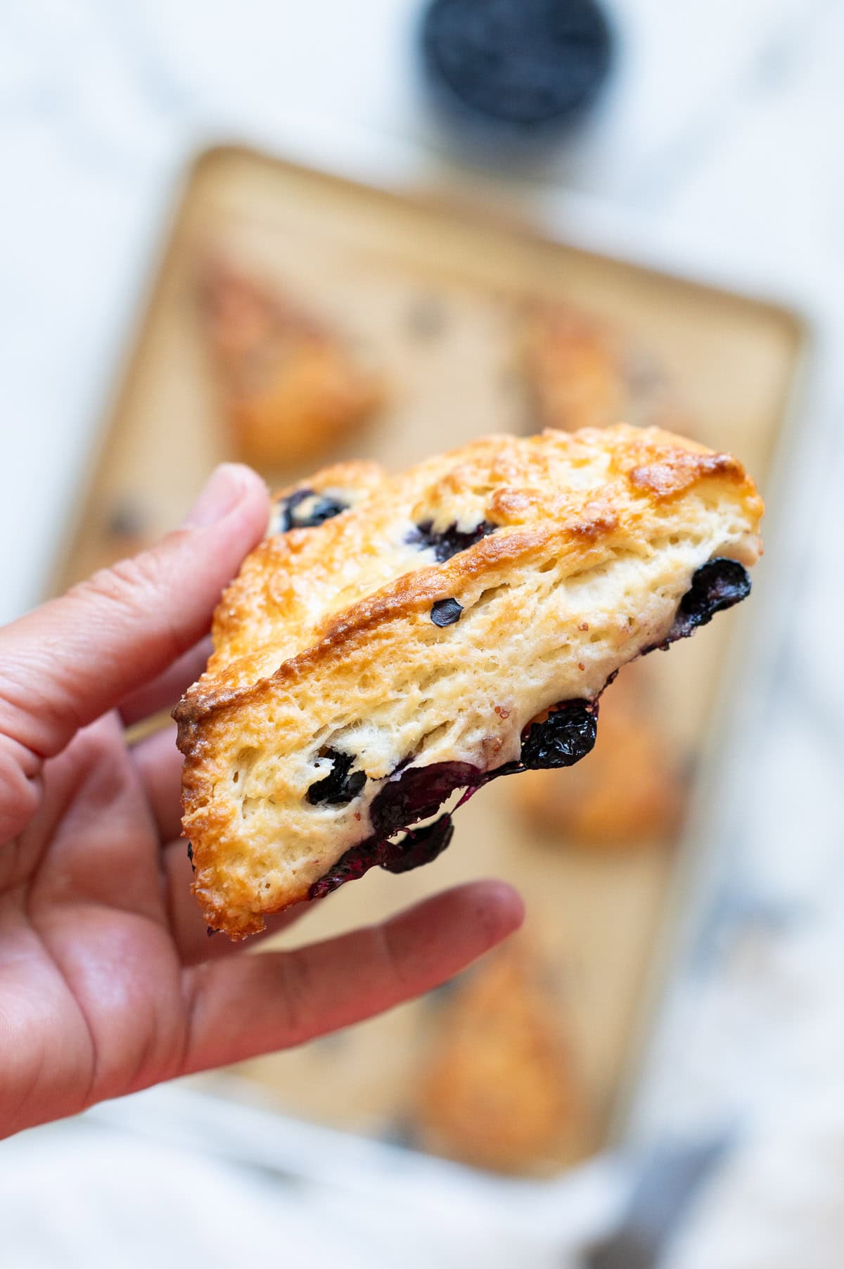
[{"label": "blurred triangular scone at upper left of tray, above the thumb", "polygon": [[383,401],[336,331],[222,259],[202,266],[201,312],[232,444],[256,467],[319,458]]}]

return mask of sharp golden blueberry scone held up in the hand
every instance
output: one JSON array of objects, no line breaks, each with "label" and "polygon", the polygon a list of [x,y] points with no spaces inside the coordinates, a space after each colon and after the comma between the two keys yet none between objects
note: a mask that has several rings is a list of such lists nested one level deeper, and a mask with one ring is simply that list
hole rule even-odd
[{"label": "sharp golden blueberry scone held up in the hand", "polygon": [[735,458],[623,424],[282,494],[175,711],[208,924],[412,868],[454,789],[583,758],[622,665],[748,594],[762,511]]}]

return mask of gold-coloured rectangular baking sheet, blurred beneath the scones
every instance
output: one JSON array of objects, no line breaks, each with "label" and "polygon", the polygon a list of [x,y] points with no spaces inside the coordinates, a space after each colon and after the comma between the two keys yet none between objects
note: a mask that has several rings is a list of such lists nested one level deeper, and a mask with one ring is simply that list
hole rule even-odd
[{"label": "gold-coloured rectangular baking sheet, blurred beneath the scones", "polygon": [[[527,298],[547,298],[609,319],[652,352],[678,385],[696,435],[736,453],[764,491],[803,340],[788,311],[584,253],[487,212],[227,147],[202,156],[185,183],[57,585],[166,532],[214,463],[230,457],[197,311],[198,261],[220,247],[312,298],[360,357],[383,368],[390,407],[326,461],[374,457],[397,468],[482,433],[531,430],[514,313]],[[442,336],[420,338],[414,313],[432,303]],[[306,472],[267,475],[288,483]],[[725,614],[669,657],[650,659],[649,690],[683,751],[699,746],[742,621],[741,612]],[[515,813],[511,784],[498,782],[461,810],[454,844],[435,865],[401,878],[373,871],[279,942],[382,919],[466,878],[514,879],[528,929],[557,971],[590,1112],[548,1161],[557,1166],[599,1146],[617,1109],[683,844],[602,854],[534,840]],[[294,1113],[406,1134],[437,1015],[437,997],[428,999],[239,1074]]]}]

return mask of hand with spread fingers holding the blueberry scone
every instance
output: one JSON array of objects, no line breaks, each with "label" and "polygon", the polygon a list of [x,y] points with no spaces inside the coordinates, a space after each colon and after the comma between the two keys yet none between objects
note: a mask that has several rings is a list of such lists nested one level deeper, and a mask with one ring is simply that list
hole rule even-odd
[{"label": "hand with spread fingers holding the blueberry scone", "polygon": [[267,516],[258,477],[222,467],[180,530],[0,631],[0,1137],[390,1009],[522,919],[477,882],[291,952],[206,937],[174,733],[127,747],[123,727],[197,676]]}]

